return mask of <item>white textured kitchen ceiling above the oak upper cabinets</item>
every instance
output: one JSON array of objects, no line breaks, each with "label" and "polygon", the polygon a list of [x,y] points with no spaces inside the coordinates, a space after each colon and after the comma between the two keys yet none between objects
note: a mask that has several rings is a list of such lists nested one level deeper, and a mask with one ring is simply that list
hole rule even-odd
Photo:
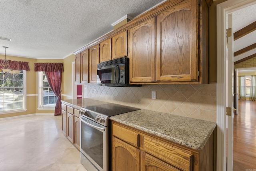
[{"label": "white textured kitchen ceiling above the oak upper cabinets", "polygon": [[[165,0],[0,0],[0,40],[7,56],[63,59]],[[11,60],[11,59],[9,59]]]}]

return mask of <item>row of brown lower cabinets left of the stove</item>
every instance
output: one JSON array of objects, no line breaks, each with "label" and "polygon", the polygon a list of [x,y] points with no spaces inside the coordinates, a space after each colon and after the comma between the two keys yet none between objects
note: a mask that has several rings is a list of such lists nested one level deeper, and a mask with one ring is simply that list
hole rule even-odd
[{"label": "row of brown lower cabinets left of the stove", "polygon": [[62,132],[80,151],[80,119],[78,109],[62,103]]}]

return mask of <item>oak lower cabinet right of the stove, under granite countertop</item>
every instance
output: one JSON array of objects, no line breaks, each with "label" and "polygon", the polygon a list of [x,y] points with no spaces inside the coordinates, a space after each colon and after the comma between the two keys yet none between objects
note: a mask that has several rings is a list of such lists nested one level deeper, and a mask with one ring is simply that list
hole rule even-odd
[{"label": "oak lower cabinet right of the stove, under granite countertop", "polygon": [[213,171],[214,133],[199,151],[112,122],[112,171]]}]

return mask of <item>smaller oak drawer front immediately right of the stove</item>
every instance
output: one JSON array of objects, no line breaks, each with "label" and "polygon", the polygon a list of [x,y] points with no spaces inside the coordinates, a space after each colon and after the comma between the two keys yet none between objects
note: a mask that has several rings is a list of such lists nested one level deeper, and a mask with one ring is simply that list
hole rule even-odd
[{"label": "smaller oak drawer front immediately right of the stove", "polygon": [[139,147],[139,133],[123,126],[112,124],[112,133],[115,137]]}]

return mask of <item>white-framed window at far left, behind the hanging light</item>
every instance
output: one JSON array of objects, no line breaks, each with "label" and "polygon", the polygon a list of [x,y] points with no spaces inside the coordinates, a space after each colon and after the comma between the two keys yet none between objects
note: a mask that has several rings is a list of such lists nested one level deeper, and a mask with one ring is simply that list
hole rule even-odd
[{"label": "white-framed window at far left, behind the hanging light", "polygon": [[[0,72],[0,75],[3,71]],[[14,113],[25,110],[26,71],[19,74],[8,73],[8,78],[0,77],[0,113]]]}]

